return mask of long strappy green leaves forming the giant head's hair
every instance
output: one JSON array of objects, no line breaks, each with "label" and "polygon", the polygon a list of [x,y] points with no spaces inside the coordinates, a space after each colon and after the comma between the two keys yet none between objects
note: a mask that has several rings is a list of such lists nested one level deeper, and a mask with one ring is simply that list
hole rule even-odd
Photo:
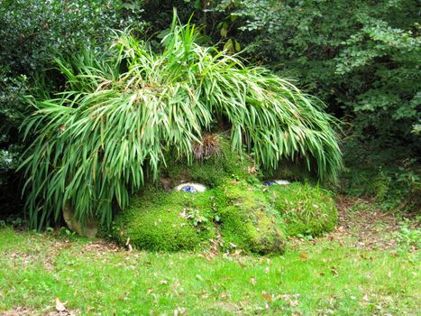
[{"label": "long strappy green leaves forming the giant head's hair", "polygon": [[145,180],[157,181],[169,153],[191,163],[210,131],[228,131],[231,150],[245,148],[264,168],[299,158],[320,177],[338,171],[334,118],[316,98],[198,45],[195,26],[176,17],[161,43],[154,51],[119,33],[102,55],[56,60],[65,90],[34,97],[23,125],[36,135],[23,163],[32,227],[58,220],[65,205],[111,224],[114,203],[125,209]]}]

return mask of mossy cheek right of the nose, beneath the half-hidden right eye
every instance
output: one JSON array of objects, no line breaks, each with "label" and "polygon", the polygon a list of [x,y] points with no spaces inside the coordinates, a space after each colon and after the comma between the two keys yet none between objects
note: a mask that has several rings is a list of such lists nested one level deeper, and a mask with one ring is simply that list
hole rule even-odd
[{"label": "mossy cheek right of the nose, beneath the half-hidden right eye", "polygon": [[267,194],[285,223],[288,236],[319,236],[332,231],[337,210],[328,191],[294,182],[271,186]]}]

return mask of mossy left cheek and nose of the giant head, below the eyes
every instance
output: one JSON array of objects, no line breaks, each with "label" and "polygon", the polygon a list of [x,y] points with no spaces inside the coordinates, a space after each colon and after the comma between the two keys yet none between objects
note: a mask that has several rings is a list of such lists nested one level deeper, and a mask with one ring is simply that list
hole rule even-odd
[{"label": "mossy left cheek and nose of the giant head, below the eyes", "polygon": [[195,194],[150,187],[117,217],[114,236],[154,251],[206,248],[211,239],[222,250],[280,254],[285,249],[277,212],[260,189],[244,181]]}]

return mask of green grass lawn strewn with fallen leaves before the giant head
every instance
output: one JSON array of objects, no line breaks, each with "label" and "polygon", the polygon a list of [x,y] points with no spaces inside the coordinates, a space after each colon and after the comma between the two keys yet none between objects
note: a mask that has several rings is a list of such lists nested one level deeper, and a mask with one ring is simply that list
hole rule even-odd
[{"label": "green grass lawn strewn with fallen leaves before the giant head", "polygon": [[0,314],[419,314],[417,251],[399,250],[388,223],[352,218],[272,257],[129,252],[2,228]]}]

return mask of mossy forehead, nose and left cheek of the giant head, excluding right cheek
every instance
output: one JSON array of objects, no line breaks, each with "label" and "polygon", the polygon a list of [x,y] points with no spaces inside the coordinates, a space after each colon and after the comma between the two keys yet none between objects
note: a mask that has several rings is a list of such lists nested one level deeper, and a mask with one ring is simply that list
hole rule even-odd
[{"label": "mossy forehead, nose and left cheek of the giant head, excluding right cheek", "polygon": [[[117,216],[114,236],[122,244],[130,237],[132,246],[158,251],[206,248],[212,242],[222,250],[284,251],[279,214],[261,190],[250,158],[233,153],[222,137],[209,139],[206,148],[197,148],[200,159],[169,163],[159,183],[147,185]],[[208,189],[172,191],[190,181]]]}]

